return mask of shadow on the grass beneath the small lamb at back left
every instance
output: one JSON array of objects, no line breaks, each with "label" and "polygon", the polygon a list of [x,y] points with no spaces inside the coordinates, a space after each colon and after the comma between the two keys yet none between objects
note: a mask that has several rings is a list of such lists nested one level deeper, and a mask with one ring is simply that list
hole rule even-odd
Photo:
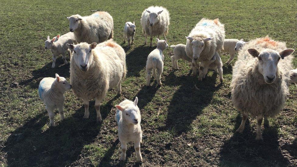
[{"label": "shadow on the grass beneath the small lamb at back left", "polygon": [[47,63],[42,68],[32,71],[32,78],[19,82],[19,85],[30,85],[31,88],[38,88],[39,82],[45,77],[55,77],[59,74],[61,77],[68,78],[70,76],[70,63],[64,64],[61,57],[56,60],[56,67],[51,68],[52,62]]}]

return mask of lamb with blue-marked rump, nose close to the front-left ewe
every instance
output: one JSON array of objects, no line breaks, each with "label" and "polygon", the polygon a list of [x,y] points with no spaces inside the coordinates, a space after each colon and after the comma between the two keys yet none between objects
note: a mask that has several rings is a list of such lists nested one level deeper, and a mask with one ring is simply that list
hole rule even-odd
[{"label": "lamb with blue-marked rump, nose close to the front-left ewe", "polygon": [[64,93],[71,89],[71,85],[64,77],[56,74],[56,78],[43,78],[38,86],[38,95],[45,104],[45,109],[50,117],[50,126],[55,126],[54,109],[58,108],[61,120],[65,120],[63,106],[65,101]]}]

